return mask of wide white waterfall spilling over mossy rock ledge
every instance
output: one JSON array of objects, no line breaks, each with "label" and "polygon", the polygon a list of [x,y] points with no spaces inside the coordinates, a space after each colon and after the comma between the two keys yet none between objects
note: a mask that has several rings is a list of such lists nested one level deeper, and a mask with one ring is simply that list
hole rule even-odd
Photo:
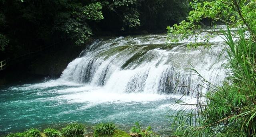
[{"label": "wide white waterfall spilling over mossy rock ledge", "polygon": [[117,93],[193,95],[205,92],[202,77],[220,84],[225,74],[220,54],[223,40],[216,36],[211,49],[188,49],[185,42],[166,45],[166,35],[95,40],[70,62],[59,80],[85,83]]}]

